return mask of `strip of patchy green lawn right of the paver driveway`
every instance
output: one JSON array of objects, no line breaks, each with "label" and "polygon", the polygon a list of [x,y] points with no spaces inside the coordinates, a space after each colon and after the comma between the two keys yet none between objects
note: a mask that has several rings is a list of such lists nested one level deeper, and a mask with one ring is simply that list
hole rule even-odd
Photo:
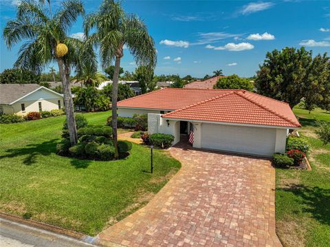
[{"label": "strip of patchy green lawn right of the paver driveway", "polygon": [[312,171],[276,169],[276,231],[284,246],[329,246],[330,243],[330,144],[314,133],[316,120],[330,122],[321,109],[294,108],[309,142]]}]

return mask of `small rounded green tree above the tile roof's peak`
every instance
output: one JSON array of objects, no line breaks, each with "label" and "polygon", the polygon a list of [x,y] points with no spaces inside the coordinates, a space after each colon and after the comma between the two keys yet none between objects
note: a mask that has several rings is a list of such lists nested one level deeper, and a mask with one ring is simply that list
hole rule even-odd
[{"label": "small rounded green tree above the tile roof's peak", "polygon": [[216,89],[245,89],[248,91],[253,90],[253,83],[247,78],[241,78],[236,74],[226,77],[220,77],[214,85]]}]

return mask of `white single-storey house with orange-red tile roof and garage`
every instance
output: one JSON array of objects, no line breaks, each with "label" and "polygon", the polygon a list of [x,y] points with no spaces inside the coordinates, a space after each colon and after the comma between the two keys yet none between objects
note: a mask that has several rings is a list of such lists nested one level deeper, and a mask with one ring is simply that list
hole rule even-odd
[{"label": "white single-storey house with orange-red tile roof and garage", "polygon": [[287,103],[242,89],[160,89],[118,102],[118,116],[148,114],[149,133],[173,144],[192,131],[193,147],[271,156],[284,153],[300,124]]}]

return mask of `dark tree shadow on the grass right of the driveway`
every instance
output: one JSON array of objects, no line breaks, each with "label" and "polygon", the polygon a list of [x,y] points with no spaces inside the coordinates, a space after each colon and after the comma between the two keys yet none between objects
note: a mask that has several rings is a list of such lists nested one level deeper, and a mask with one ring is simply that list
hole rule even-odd
[{"label": "dark tree shadow on the grass right of the driveway", "polygon": [[289,188],[281,190],[300,197],[305,205],[304,212],[311,213],[320,223],[330,225],[330,189],[292,184]]}]

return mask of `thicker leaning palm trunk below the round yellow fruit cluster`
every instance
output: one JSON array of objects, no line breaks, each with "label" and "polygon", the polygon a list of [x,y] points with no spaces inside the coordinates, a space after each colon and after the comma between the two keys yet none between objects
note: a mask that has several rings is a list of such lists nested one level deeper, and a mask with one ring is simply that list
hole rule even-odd
[{"label": "thicker leaning palm trunk below the round yellow fruit cluster", "polygon": [[63,94],[64,94],[64,102],[65,102],[65,114],[67,116],[67,129],[69,130],[70,142],[72,145],[77,143],[77,128],[76,128],[76,120],[74,118],[74,102],[72,100],[71,89],[69,85],[69,76],[70,71],[69,67],[65,66],[62,58],[57,59],[58,70],[60,72]]}]

